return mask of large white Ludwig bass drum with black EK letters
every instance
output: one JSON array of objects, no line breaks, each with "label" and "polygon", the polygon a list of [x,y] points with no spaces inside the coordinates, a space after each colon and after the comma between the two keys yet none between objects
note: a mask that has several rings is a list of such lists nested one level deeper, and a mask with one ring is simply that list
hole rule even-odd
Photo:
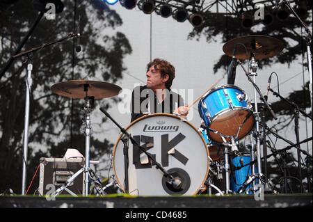
[{"label": "large white Ludwig bass drum with black EK letters", "polygon": [[[129,194],[191,196],[202,189],[209,173],[209,150],[190,122],[169,113],[153,113],[131,122],[126,130],[161,166],[182,182],[174,187],[147,155],[129,141]],[[113,149],[113,171],[125,191],[125,156],[121,134]]]}]

